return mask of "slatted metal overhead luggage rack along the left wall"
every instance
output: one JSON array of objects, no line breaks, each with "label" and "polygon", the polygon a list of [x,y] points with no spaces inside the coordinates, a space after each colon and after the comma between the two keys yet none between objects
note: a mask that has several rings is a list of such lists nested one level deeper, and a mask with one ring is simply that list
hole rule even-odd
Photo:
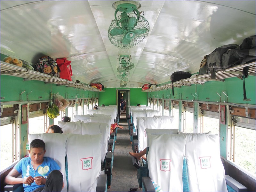
[{"label": "slatted metal overhead luggage rack along the left wall", "polygon": [[33,71],[28,68],[18,67],[16,65],[6,63],[4,61],[1,61],[0,64],[1,75],[21,77],[24,81],[38,80],[44,81],[45,84],[57,84],[57,86],[63,85],[67,87],[74,87],[76,89],[104,92],[103,90],[100,91],[99,89],[90,87],[89,85],[77,83],[75,81],[68,81],[67,79],[61,79],[59,77],[47,75],[44,73],[39,73],[37,71]]}]

